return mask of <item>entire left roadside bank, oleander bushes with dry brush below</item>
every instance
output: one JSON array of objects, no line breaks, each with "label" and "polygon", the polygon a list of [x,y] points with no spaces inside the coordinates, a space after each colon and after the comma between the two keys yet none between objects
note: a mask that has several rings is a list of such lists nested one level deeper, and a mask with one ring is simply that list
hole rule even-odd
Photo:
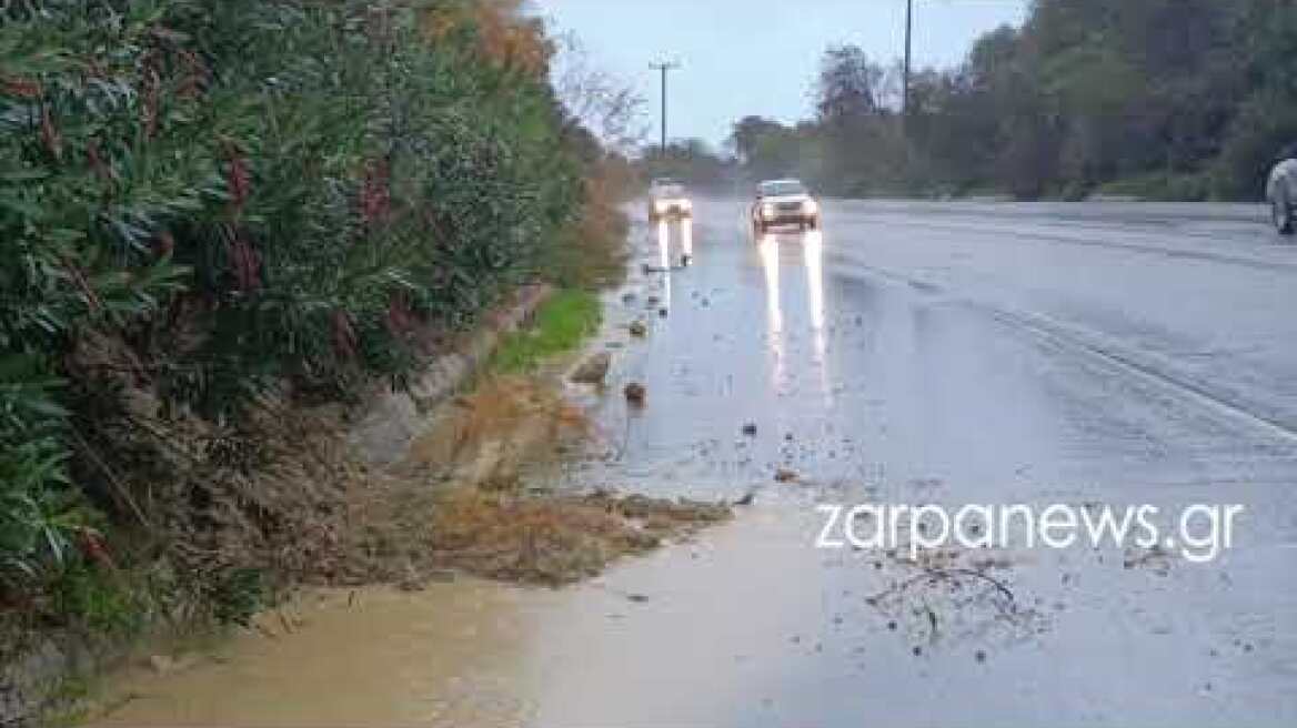
[{"label": "entire left roadside bank, oleander bushes with dry brush below", "polygon": [[518,4],[23,4],[0,47],[8,724],[341,578],[512,294],[624,231]]}]

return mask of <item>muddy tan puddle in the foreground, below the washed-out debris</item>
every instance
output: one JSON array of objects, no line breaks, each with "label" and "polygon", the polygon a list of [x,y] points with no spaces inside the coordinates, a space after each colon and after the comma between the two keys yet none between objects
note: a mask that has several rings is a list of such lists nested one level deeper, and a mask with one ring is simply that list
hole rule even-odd
[{"label": "muddy tan puddle in the foreground, below the washed-out debris", "polygon": [[[96,724],[571,725],[616,711],[661,725],[689,693],[722,720],[746,688],[716,676],[776,663],[804,630],[812,592],[781,575],[796,552],[769,548],[785,527],[752,514],[563,591],[462,579],[315,595],[291,633],[249,632],[187,670],[119,677],[127,702]],[[752,601],[761,619],[737,619]]]}]

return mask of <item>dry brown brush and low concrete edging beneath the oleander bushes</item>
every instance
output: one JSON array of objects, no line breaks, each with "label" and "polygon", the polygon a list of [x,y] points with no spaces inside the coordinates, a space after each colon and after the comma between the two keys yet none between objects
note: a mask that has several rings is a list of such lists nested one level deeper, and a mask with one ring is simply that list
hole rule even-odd
[{"label": "dry brown brush and low concrete edging beneath the oleander bushes", "polygon": [[[213,521],[173,516],[166,526],[171,538],[183,538],[196,562],[201,558],[236,576],[210,589],[191,589],[174,573],[183,566],[144,561],[144,553],[119,556],[123,563],[106,562],[102,579],[86,575],[79,592],[62,595],[78,600],[73,606],[92,610],[93,622],[38,630],[9,620],[0,654],[0,724],[32,720],[51,703],[75,705],[93,676],[114,665],[157,662],[158,650],[183,652],[219,639],[226,624],[250,623],[258,610],[300,584],[410,582],[411,562],[397,549],[412,552],[418,544],[402,544],[399,538],[384,541],[402,522],[397,514],[411,513],[407,501],[393,499],[432,488],[385,465],[403,457],[422,434],[427,437],[433,427],[429,413],[471,385],[499,342],[527,326],[549,294],[547,286],[520,289],[445,355],[429,359],[409,390],[374,386],[350,405],[302,407],[284,398],[258,398],[241,430],[244,444],[256,443],[246,455],[256,459],[256,468],[222,466],[200,451],[174,453],[170,477],[209,481],[213,504],[205,513]],[[136,392],[135,399],[145,396]],[[148,427],[176,426],[143,416]],[[184,435],[200,439],[200,420],[182,424],[193,429]],[[254,499],[259,521],[246,517],[245,499]],[[376,504],[387,513],[380,525],[371,521]],[[156,504],[148,505],[148,513],[157,513]],[[429,512],[418,517],[431,518]]]}]

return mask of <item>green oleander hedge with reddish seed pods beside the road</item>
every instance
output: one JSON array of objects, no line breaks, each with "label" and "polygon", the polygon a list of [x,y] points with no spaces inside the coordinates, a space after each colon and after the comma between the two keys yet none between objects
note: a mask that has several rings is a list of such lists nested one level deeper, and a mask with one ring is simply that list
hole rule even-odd
[{"label": "green oleander hedge with reddish seed pods beside the road", "polygon": [[550,54],[502,0],[0,3],[0,606],[115,569],[114,525],[201,529],[265,392],[399,386],[573,276],[599,212]]}]

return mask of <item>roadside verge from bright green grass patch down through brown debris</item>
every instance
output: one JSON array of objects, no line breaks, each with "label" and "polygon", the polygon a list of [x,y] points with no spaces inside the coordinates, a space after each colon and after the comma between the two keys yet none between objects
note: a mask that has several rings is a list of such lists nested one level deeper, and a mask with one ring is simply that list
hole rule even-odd
[{"label": "roadside verge from bright green grass patch down through brown debris", "polygon": [[[293,571],[279,573],[275,592],[239,620],[243,630],[267,639],[292,633],[296,627],[285,614],[292,614],[292,604],[310,600],[303,595],[315,587],[326,589],[322,593],[377,586],[423,591],[460,576],[560,587],[730,518],[724,503],[538,487],[528,473],[562,464],[590,435],[584,411],[565,398],[563,382],[582,359],[586,337],[598,329],[598,298],[523,290],[489,320],[489,328],[464,338],[472,352],[455,355],[462,364],[429,365],[425,376],[434,386],[425,391],[441,394],[409,400],[406,426],[390,430],[406,444],[384,443],[381,464],[354,427],[371,426],[376,408],[390,409],[390,394],[357,405],[358,417],[336,407],[316,408],[310,433],[289,434],[300,457],[285,457],[276,472],[305,475],[303,487],[280,486],[283,500],[266,504],[293,529],[274,541],[281,561],[267,567],[291,565]],[[287,424],[296,415],[280,416]],[[310,516],[293,521],[291,513]],[[254,543],[246,535],[230,541],[240,549]],[[184,639],[171,635],[100,657],[75,649],[58,653],[42,665],[45,684],[62,688],[58,697],[74,706],[69,715],[78,719],[112,711],[121,694],[80,693],[95,683],[79,680],[69,693],[69,670],[89,675],[118,665],[170,674],[210,659],[210,648],[196,641],[189,627],[178,632]],[[29,672],[35,665],[29,662]],[[27,684],[32,690],[32,681]]]}]

